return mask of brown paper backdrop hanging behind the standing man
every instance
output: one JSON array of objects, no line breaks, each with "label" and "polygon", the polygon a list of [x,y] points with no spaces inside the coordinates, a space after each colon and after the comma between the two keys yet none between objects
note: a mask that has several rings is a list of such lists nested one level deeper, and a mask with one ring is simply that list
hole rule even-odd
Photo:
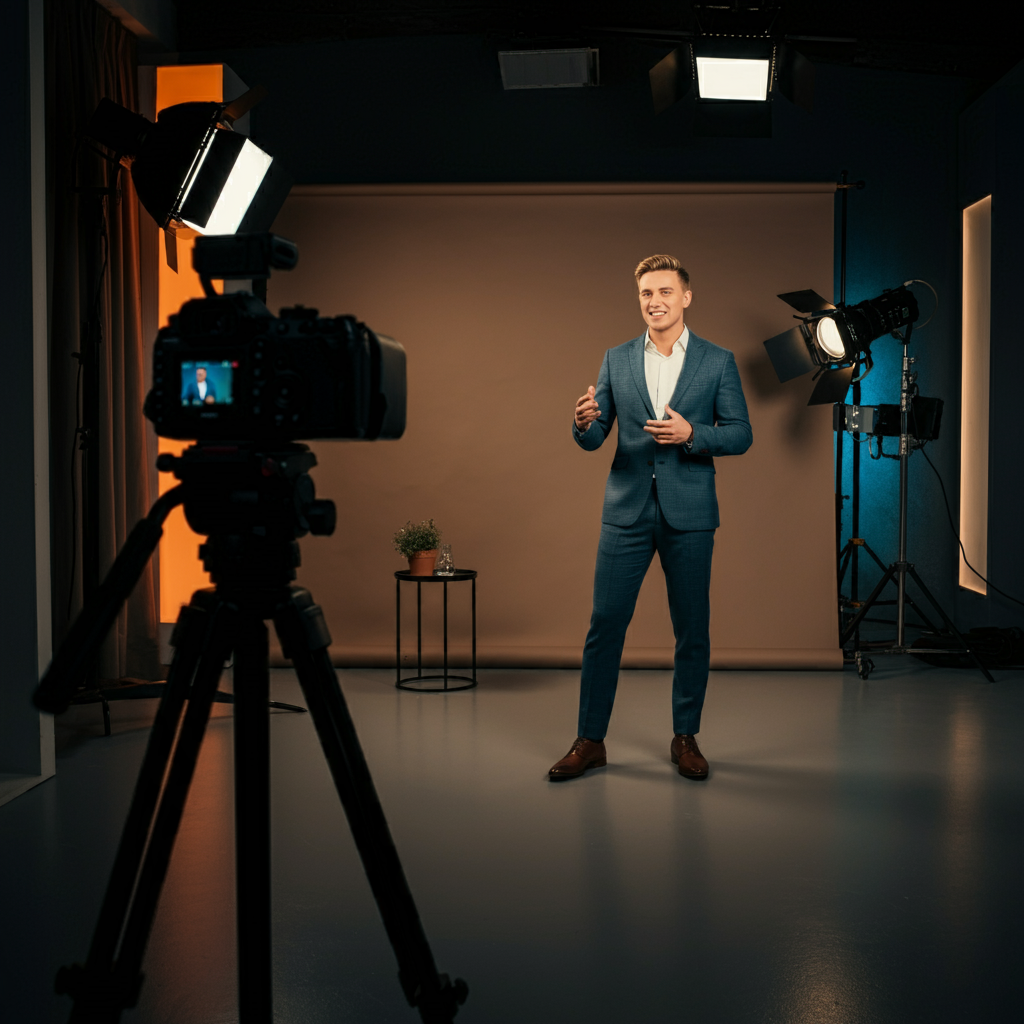
[{"label": "brown paper backdrop hanging behind the standing man", "polygon": [[[479,664],[580,664],[614,436],[573,443],[573,402],[604,350],[644,329],[633,267],[652,253],[690,272],[687,323],[732,349],[754,445],[717,461],[722,526],[713,665],[841,667],[829,407],[810,378],[780,386],[762,342],[792,325],[778,292],[831,295],[835,185],[304,186],[274,230],[298,267],[269,305],[353,313],[409,358],[397,441],[316,442],[317,494],[338,530],[303,541],[299,582],[323,605],[344,665],[393,665],[391,536],[433,517],[478,580]],[[415,588],[403,585],[403,660]],[[424,588],[428,653],[439,587]],[[469,586],[450,587],[453,656],[468,655]],[[625,666],[671,665],[655,558]]]}]

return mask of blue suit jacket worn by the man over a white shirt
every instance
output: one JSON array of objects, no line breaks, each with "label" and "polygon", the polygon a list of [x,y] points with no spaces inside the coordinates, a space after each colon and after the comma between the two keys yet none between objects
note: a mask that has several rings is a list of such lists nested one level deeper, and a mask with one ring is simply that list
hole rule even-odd
[{"label": "blue suit jacket worn by the man over a white shirt", "polygon": [[657,474],[662,512],[676,529],[716,529],[719,525],[715,494],[717,455],[742,455],[754,439],[746,416],[739,372],[732,352],[690,332],[679,383],[669,406],[693,426],[693,451],[682,444],[658,444],[644,432],[654,415],[644,373],[645,334],[604,353],[595,397],[601,415],[581,433],[572,423],[577,444],[588,452],[599,449],[615,418],[618,445],[604,489],[603,522],[630,526],[650,495]]}]

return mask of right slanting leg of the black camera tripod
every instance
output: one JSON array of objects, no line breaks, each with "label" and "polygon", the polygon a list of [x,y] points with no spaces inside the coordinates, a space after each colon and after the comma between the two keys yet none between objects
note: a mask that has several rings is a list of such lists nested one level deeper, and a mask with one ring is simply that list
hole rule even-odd
[{"label": "right slanting leg of the black camera tripod", "polygon": [[466,983],[438,974],[398,851],[328,655],[331,635],[307,591],[294,588],[274,625],[285,656],[295,665],[321,746],[348,817],[370,888],[398,959],[406,998],[424,1024],[450,1024],[466,998]]}]

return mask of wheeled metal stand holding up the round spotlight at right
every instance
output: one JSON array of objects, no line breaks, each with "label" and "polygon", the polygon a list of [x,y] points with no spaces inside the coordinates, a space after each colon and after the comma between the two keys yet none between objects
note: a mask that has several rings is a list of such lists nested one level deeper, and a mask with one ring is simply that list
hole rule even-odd
[{"label": "wheeled metal stand holding up the round spotlight at right", "polygon": [[[956,627],[953,625],[952,620],[945,613],[942,606],[938,601],[932,596],[931,591],[925,586],[924,581],[918,574],[918,570],[913,567],[911,562],[907,561],[906,558],[906,542],[907,542],[907,504],[909,500],[909,486],[908,486],[908,471],[910,462],[910,453],[913,447],[916,446],[915,439],[910,434],[909,425],[909,414],[910,414],[910,402],[911,402],[911,388],[914,381],[916,380],[916,373],[911,370],[912,365],[916,361],[913,357],[907,354],[907,346],[910,343],[910,335],[913,332],[913,325],[908,324],[906,331],[903,335],[893,332],[893,337],[902,343],[903,346],[903,364],[902,373],[900,375],[900,389],[899,389],[899,408],[900,408],[900,437],[899,437],[899,551],[897,554],[897,559],[895,562],[889,565],[885,570],[882,579],[878,582],[874,590],[871,591],[870,596],[857,610],[857,613],[853,616],[850,623],[847,625],[846,629],[840,638],[840,645],[846,646],[846,644],[854,639],[853,654],[854,659],[857,663],[857,675],[861,679],[867,679],[870,673],[874,669],[874,663],[868,657],[868,654],[908,654],[911,652],[910,647],[906,643],[906,606],[909,604],[914,610],[919,610],[913,604],[913,601],[908,596],[906,592],[906,581],[909,577],[921,589],[921,592],[928,599],[932,607],[938,612],[942,622],[945,624],[946,629],[952,636],[956,639],[959,644],[958,647],[949,648],[935,648],[935,653],[941,654],[967,654],[972,662],[974,662],[975,667],[979,672],[987,679],[990,683],[995,682],[991,674],[982,665],[981,659],[978,655],[971,649],[968,642],[961,636]],[[853,543],[853,542],[851,542]],[[873,554],[873,552],[872,552]],[[876,561],[879,561],[876,556]],[[880,562],[881,564],[881,562]],[[882,592],[885,590],[886,585],[892,581],[896,585],[896,642],[888,646],[872,646],[869,648],[861,647],[859,628],[860,624],[864,621],[867,612],[870,608],[880,602],[880,597]],[[920,611],[919,611],[920,614]],[[924,616],[922,616],[924,617]],[[927,620],[926,620],[927,622]],[[929,653],[932,653],[933,648],[929,648]]]}]

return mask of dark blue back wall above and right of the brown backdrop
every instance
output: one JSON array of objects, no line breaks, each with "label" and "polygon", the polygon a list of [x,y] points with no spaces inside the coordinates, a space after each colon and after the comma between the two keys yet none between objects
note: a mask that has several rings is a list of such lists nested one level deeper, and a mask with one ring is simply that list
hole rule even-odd
[{"label": "dark blue back wall above and right of the brown backdrop", "polygon": [[[182,59],[223,60],[250,85],[267,86],[270,98],[254,113],[253,136],[281,155],[299,182],[822,181],[837,180],[843,169],[852,179],[864,179],[866,188],[850,197],[847,299],[869,298],[911,278],[931,282],[939,293],[938,311],[913,352],[921,356],[922,391],[946,401],[942,437],[930,455],[945,478],[955,517],[957,117],[968,83],[818,66],[813,115],[780,99],[770,139],[695,138],[685,103],[660,117],[652,113],[647,70],[664,50],[602,45],[597,89],[504,92],[497,49],[482,38],[450,37]],[[837,246],[838,234],[837,228]],[[837,297],[838,265],[837,258]],[[927,312],[931,297],[920,294]],[[780,330],[788,316],[779,303]],[[895,401],[899,349],[883,339],[874,352],[862,400]],[[860,532],[888,562],[896,550],[896,463],[864,462]],[[912,460],[910,479],[910,557],[951,610],[956,547],[938,484],[920,457]],[[849,479],[844,490],[850,493]],[[1019,587],[1019,554],[1016,566],[1016,575],[1005,582]],[[872,573],[862,579],[863,592]]]}]

